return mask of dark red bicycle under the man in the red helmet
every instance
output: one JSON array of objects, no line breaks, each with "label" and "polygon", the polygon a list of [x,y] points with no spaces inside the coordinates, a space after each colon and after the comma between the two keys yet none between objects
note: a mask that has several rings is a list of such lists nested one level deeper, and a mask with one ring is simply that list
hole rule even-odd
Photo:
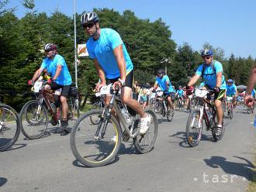
[{"label": "dark red bicycle under the man in the red helmet", "polygon": [[[54,104],[54,92],[48,91],[45,88],[46,84],[47,81],[40,81],[38,84],[34,84],[33,91],[36,94],[36,100],[26,102],[19,114],[22,133],[28,139],[39,139],[44,135],[48,128],[49,115],[52,125],[61,125],[61,110],[57,110]],[[80,115],[78,97],[78,88],[71,87],[67,98],[67,118],[70,126],[74,124]]]}]

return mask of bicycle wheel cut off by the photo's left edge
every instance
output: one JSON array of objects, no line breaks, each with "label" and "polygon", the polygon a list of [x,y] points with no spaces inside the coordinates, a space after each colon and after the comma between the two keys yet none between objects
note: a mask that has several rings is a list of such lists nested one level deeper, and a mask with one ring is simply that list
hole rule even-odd
[{"label": "bicycle wheel cut off by the photo's left edge", "polygon": [[0,103],[0,151],[9,149],[17,141],[20,127],[16,110]]}]

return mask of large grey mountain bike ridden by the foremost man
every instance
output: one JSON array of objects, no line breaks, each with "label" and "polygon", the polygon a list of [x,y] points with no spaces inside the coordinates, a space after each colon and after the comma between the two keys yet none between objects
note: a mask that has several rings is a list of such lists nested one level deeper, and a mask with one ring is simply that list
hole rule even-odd
[{"label": "large grey mountain bike ridden by the foremost man", "polygon": [[[110,163],[119,151],[121,136],[123,142],[132,138],[139,153],[150,152],[157,139],[158,127],[154,112],[146,111],[151,117],[150,127],[144,135],[140,135],[140,116],[131,108],[126,110],[126,105],[119,98],[119,91],[111,86],[112,84],[104,86],[99,92],[102,95],[111,95],[109,105],[103,111],[92,110],[81,115],[71,130],[72,153],[85,166],[104,166]],[[112,115],[112,109],[116,115]],[[126,115],[123,111],[126,111]],[[89,118],[92,115],[99,118],[99,124],[90,123]]]}]

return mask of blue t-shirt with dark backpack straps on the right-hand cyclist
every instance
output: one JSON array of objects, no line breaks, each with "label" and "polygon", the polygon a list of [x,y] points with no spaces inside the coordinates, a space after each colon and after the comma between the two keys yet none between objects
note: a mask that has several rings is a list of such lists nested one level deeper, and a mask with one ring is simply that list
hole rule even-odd
[{"label": "blue t-shirt with dark backpack straps on the right-hand cyclist", "polygon": [[[199,76],[202,75],[202,67],[205,63],[202,63],[196,70],[195,74],[198,74]],[[219,61],[214,62],[214,68],[209,64],[205,64],[205,70],[204,70],[204,75],[203,75],[203,81],[204,83],[209,86],[209,88],[213,89],[216,87],[216,74],[219,72],[222,72],[223,74],[223,67],[222,64]],[[225,82],[225,77],[222,75],[222,82],[220,89],[226,89],[226,82]]]}]

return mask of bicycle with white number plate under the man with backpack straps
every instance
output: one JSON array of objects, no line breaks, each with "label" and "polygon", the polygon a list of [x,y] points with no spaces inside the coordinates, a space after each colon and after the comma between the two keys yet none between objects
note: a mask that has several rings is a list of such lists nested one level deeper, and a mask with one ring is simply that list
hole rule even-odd
[{"label": "bicycle with white number plate under the man with backpack straps", "polygon": [[[186,139],[189,146],[197,146],[202,137],[202,120],[205,121],[206,131],[211,131],[215,142],[223,138],[225,127],[223,126],[220,135],[216,135],[217,117],[216,109],[213,105],[213,98],[210,95],[214,94],[213,90],[195,90],[196,106],[192,109],[187,125]],[[222,122],[223,125],[223,122]]]}]

